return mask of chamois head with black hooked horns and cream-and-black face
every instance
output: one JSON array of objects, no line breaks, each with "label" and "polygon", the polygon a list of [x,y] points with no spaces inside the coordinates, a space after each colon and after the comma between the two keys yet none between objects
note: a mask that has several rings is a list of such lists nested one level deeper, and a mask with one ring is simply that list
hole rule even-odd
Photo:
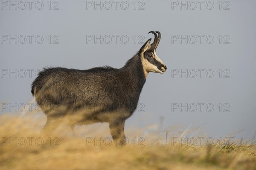
[{"label": "chamois head with black hooked horns and cream-and-black face", "polygon": [[139,51],[145,76],[147,76],[149,72],[164,73],[167,69],[166,65],[156,53],[157,46],[161,39],[160,32],[150,31],[148,33],[154,34],[154,42],[150,44],[151,38],[148,39]]}]

